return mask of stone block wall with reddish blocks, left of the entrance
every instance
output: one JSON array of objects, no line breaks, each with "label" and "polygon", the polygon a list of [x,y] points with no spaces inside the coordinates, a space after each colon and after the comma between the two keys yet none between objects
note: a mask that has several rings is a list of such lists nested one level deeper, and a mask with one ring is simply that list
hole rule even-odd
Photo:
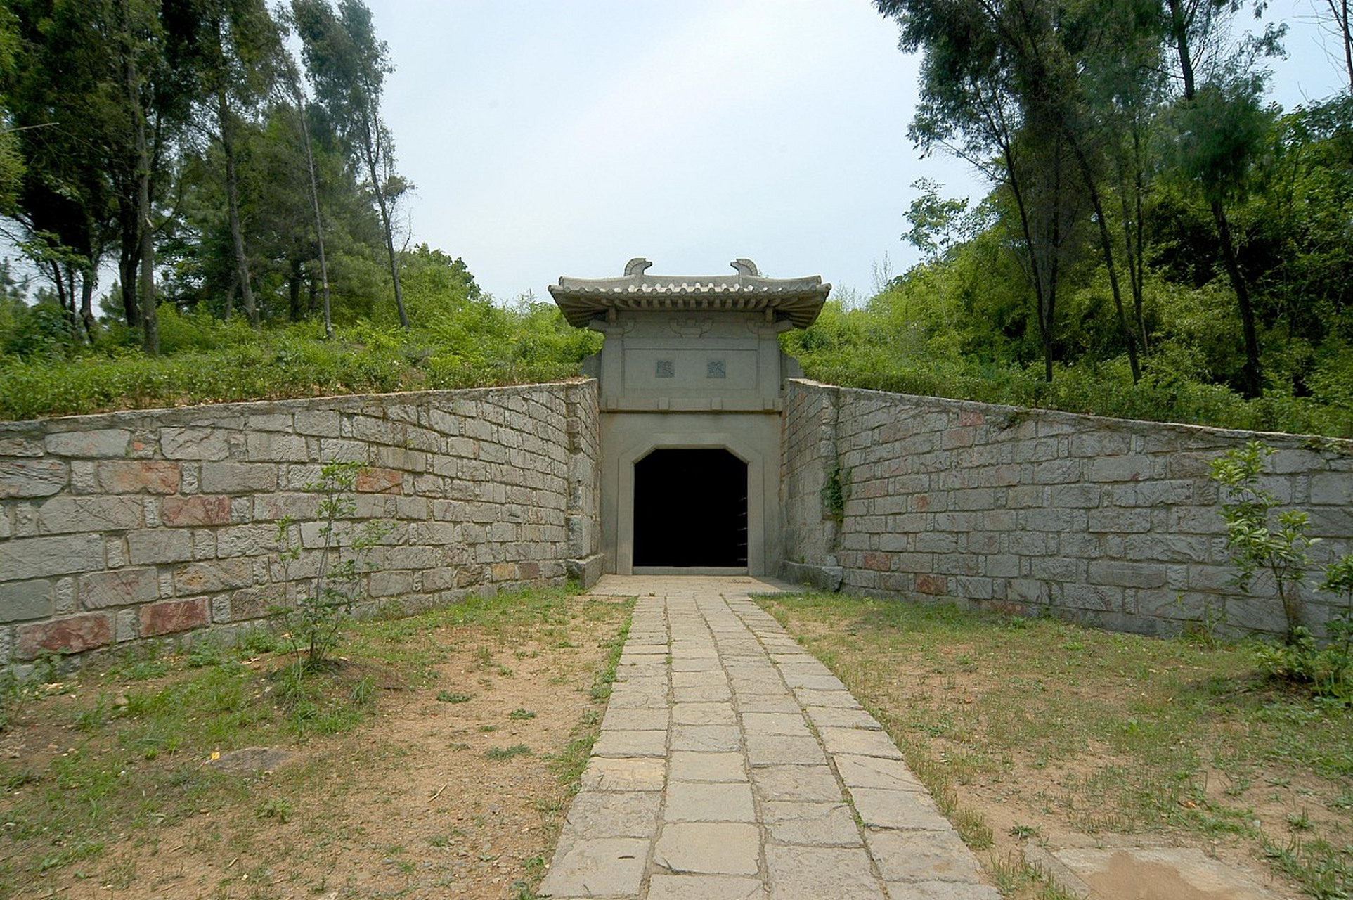
[{"label": "stone block wall with reddish blocks, left of the entrance", "polygon": [[594,575],[595,448],[595,382],[0,422],[0,665],[292,601],[317,572],[304,486],[327,460],[367,463],[356,518],[392,525],[372,602]]}]

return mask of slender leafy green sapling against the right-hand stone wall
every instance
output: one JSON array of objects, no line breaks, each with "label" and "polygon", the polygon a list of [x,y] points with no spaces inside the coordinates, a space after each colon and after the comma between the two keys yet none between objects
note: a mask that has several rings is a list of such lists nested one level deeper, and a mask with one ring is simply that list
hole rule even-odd
[{"label": "slender leafy green sapling against the right-hand stone wall", "polygon": [[1287,618],[1287,639],[1295,646],[1304,631],[1300,589],[1308,563],[1306,551],[1319,539],[1307,537],[1307,516],[1296,509],[1279,513],[1277,528],[1269,526],[1277,501],[1260,486],[1260,475],[1273,452],[1272,447],[1249,441],[1214,459],[1210,467],[1224,497],[1222,518],[1226,520],[1226,547],[1237,567],[1235,583],[1249,590],[1257,572],[1272,575]]}]

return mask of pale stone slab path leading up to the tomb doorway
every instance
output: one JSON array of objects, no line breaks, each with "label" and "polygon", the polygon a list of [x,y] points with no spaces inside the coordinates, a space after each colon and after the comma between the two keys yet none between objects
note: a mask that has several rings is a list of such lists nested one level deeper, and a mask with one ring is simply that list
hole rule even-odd
[{"label": "pale stone slab path leading up to the tomb doorway", "polygon": [[878,723],[750,600],[781,589],[593,590],[639,602],[544,896],[999,900]]}]

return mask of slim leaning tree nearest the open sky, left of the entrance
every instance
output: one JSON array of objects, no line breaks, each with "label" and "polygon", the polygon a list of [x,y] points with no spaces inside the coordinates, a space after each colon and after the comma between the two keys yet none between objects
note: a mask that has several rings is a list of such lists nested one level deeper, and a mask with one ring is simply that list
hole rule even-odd
[{"label": "slim leaning tree nearest the open sky, left of the entrance", "polygon": [[384,78],[394,72],[388,47],[376,38],[371,9],[361,0],[340,0],[337,15],[327,0],[292,0],[291,9],[315,96],[367,172],[384,229],[395,309],[407,329],[391,215],[394,199],[407,184],[394,172],[394,142],[380,118]]}]

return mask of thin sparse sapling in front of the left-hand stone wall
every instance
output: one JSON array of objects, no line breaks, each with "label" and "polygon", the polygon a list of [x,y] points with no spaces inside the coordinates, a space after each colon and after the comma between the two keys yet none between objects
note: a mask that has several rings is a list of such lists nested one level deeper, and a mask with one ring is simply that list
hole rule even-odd
[{"label": "thin sparse sapling in front of the left-hand stone wall", "polygon": [[[357,514],[353,498],[357,476],[365,468],[364,463],[350,460],[325,463],[319,478],[306,485],[307,491],[319,494],[319,570],[298,595],[295,608],[284,613],[291,651],[298,665],[308,671],[322,669],[333,652],[338,629],[361,600],[361,577],[369,571],[371,548],[390,533],[390,524],[384,521],[368,521],[360,528],[350,522]],[[279,558],[283,562],[299,559],[303,549],[294,525],[290,517],[277,522]]]}]

